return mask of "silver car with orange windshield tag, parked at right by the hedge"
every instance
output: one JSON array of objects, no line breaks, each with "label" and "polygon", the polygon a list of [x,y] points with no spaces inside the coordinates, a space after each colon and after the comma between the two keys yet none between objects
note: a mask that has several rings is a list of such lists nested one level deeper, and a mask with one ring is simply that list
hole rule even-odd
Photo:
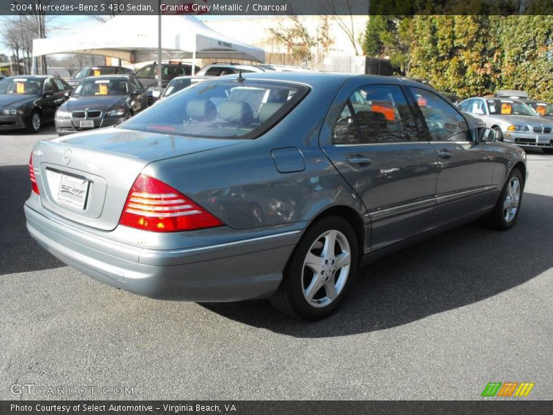
[{"label": "silver car with orange windshield tag, parked at right by the hedge", "polygon": [[498,131],[501,141],[521,147],[540,147],[553,154],[553,122],[539,118],[536,112],[519,100],[505,98],[469,98],[459,104]]}]

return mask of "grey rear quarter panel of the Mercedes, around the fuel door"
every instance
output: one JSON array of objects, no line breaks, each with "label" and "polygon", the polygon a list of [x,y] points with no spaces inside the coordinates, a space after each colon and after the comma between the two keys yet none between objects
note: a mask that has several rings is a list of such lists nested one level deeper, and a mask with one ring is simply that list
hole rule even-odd
[{"label": "grey rear quarter panel of the Mercedes, around the fuel door", "polygon": [[[151,163],[143,173],[160,178],[238,230],[307,225],[336,205],[363,214],[362,203],[319,147],[322,122],[340,86],[314,86],[288,116],[255,140]],[[296,147],[305,169],[279,172],[271,151],[283,147]],[[262,214],[255,214],[259,210]]]}]

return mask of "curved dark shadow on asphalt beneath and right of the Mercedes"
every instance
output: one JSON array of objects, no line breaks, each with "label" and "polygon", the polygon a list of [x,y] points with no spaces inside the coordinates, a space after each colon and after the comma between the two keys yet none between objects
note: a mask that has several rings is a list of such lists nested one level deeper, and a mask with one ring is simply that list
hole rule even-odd
[{"label": "curved dark shadow on asphalt beneath and right of the Mercedes", "polygon": [[320,322],[281,315],[267,301],[202,304],[232,320],[299,338],[389,329],[487,299],[553,267],[553,198],[525,194],[507,232],[477,221],[359,270],[336,313]]}]

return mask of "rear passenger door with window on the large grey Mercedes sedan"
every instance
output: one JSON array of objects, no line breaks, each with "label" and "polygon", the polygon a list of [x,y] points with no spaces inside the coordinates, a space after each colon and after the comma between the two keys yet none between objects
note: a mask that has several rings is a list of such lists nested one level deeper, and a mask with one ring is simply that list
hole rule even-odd
[{"label": "rear passenger door with window on the large grey Mercedes sedan", "polygon": [[345,88],[329,117],[332,133],[329,139],[321,135],[321,147],[371,216],[371,249],[427,230],[435,204],[437,156],[420,137],[402,87]]}]

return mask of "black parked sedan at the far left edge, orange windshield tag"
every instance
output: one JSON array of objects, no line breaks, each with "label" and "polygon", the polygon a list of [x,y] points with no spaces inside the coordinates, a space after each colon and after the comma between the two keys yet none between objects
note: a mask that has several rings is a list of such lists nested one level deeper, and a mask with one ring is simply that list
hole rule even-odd
[{"label": "black parked sedan at the far left edge, orange windshield tag", "polygon": [[71,86],[50,75],[17,75],[0,81],[0,131],[25,129],[38,133],[54,120]]}]

